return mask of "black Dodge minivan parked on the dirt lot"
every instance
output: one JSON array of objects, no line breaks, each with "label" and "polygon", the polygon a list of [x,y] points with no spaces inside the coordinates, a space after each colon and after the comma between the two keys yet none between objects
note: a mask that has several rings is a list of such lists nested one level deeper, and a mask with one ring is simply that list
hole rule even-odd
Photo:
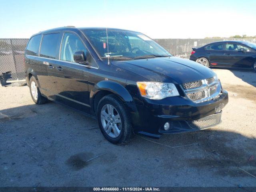
[{"label": "black Dodge minivan parked on the dirt lot", "polygon": [[52,100],[96,117],[112,143],[133,133],[160,138],[215,126],[228,103],[211,69],[129,30],[39,32],[28,42],[25,67],[36,104]]}]

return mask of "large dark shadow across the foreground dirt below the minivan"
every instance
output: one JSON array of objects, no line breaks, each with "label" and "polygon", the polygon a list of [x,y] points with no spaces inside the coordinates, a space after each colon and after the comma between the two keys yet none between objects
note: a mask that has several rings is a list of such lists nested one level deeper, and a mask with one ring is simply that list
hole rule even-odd
[{"label": "large dark shadow across the foreground dirt below the minivan", "polygon": [[[1,110],[0,136],[0,165],[6,170],[12,167],[11,174],[1,171],[1,183],[7,186],[10,175],[21,177],[14,181],[12,178],[12,184],[24,182],[29,186],[30,180],[39,179],[47,186],[52,179],[54,186],[58,186],[59,180],[55,178],[63,175],[69,186],[82,186],[81,176],[87,174],[96,177],[98,183],[94,184],[99,186],[174,186],[173,182],[182,184],[198,177],[199,172],[245,178],[247,184],[255,184],[256,138],[222,131],[221,125],[164,135],[159,140],[134,136],[125,145],[114,145],[102,136],[96,120],[49,102]],[[37,177],[31,172],[36,172]],[[66,174],[73,172],[76,174],[71,181],[65,179]],[[140,181],[133,177],[137,174],[141,175]]]}]

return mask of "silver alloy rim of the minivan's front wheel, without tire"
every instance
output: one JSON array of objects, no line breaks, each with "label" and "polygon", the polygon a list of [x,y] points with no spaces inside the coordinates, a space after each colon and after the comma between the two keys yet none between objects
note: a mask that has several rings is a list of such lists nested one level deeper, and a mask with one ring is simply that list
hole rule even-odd
[{"label": "silver alloy rim of the minivan's front wheel, without tire", "polygon": [[121,118],[114,106],[106,104],[102,107],[100,113],[102,127],[106,134],[112,138],[117,138],[121,133]]}]

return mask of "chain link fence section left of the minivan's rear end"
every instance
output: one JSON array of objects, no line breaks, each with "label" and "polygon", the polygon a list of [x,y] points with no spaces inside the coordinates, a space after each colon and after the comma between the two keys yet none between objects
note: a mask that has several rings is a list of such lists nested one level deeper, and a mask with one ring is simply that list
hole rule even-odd
[{"label": "chain link fence section left of the minivan's rear end", "polygon": [[0,76],[7,81],[25,79],[24,50],[28,39],[0,39]]}]

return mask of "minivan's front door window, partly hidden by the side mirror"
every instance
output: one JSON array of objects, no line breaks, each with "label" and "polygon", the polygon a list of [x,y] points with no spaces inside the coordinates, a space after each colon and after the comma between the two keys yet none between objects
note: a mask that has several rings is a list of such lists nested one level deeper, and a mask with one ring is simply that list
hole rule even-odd
[{"label": "minivan's front door window, partly hidden by the side mirror", "polygon": [[74,62],[74,52],[83,51],[86,56],[86,48],[80,38],[72,33],[65,33],[61,43],[60,60]]}]

